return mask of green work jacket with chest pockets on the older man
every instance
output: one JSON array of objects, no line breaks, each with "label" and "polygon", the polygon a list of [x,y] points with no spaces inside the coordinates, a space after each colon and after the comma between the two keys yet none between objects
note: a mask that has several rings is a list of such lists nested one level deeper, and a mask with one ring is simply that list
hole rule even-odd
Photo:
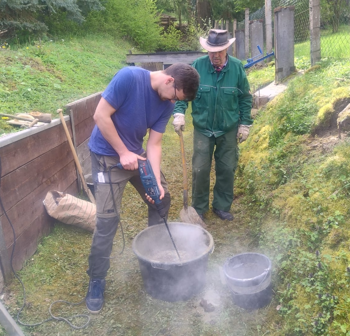
[{"label": "green work jacket with chest pockets on the older man", "polygon": [[[219,73],[207,55],[192,63],[200,75],[197,96],[192,101],[192,122],[196,130],[208,137],[219,137],[238,125],[253,124],[252,95],[244,67],[237,58],[228,57]],[[185,114],[187,107],[187,102],[176,102],[173,114]]]}]

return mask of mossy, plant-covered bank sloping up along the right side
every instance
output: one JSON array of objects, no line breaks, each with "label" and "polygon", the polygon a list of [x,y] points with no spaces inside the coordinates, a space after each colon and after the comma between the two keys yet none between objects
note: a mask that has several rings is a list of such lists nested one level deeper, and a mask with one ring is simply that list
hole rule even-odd
[{"label": "mossy, plant-covered bank sloping up along the right side", "polygon": [[[348,68],[324,60],[290,80],[240,147],[235,188],[275,266],[283,324],[272,335],[350,335],[350,143],[325,153],[313,146],[328,138],[310,135],[322,107],[349,99]],[[344,83],[335,87],[339,75]]]}]

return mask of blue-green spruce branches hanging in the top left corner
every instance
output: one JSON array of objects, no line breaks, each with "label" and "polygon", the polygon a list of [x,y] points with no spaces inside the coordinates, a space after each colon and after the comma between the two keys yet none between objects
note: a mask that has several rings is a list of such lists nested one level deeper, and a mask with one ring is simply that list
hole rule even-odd
[{"label": "blue-green spruce branches hanging in the top left corner", "polygon": [[90,10],[101,10],[99,0],[0,0],[0,34],[11,35],[26,30],[43,33],[48,30],[40,20],[61,10],[67,19],[82,23],[83,14]]}]

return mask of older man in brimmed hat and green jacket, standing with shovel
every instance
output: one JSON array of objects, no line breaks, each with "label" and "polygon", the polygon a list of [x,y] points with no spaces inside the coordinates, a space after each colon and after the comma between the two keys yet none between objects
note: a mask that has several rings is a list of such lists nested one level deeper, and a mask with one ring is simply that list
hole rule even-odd
[{"label": "older man in brimmed hat and green jacket, standing with shovel", "polygon": [[[215,159],[216,181],[212,210],[222,220],[231,221],[233,179],[239,157],[237,142],[243,142],[253,124],[252,95],[244,67],[227,54],[235,38],[228,39],[227,30],[211,29],[200,43],[208,55],[197,58],[192,66],[200,74],[200,86],[192,101],[193,157],[192,207],[201,218],[209,210],[210,169]],[[188,103],[178,101],[173,126],[184,131]]]}]

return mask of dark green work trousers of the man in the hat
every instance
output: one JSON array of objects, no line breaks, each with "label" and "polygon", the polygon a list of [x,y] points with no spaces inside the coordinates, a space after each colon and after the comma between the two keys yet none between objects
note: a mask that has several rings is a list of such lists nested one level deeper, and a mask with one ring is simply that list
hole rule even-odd
[{"label": "dark green work trousers of the man in the hat", "polygon": [[233,179],[237,168],[239,150],[238,128],[219,137],[207,137],[193,132],[192,156],[192,207],[202,215],[209,210],[210,170],[214,153],[215,184],[212,207],[230,211],[233,202]]}]

